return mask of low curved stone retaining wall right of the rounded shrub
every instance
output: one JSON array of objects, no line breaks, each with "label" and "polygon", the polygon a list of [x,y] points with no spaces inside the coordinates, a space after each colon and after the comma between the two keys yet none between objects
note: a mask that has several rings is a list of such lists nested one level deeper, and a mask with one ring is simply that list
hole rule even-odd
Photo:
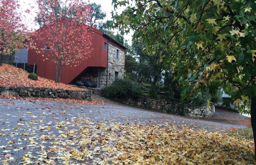
[{"label": "low curved stone retaining wall right of the rounded shrub", "polygon": [[134,99],[124,99],[119,100],[116,98],[117,101],[134,105],[141,108],[148,108],[153,109],[160,112],[166,112],[171,114],[179,114],[185,115],[188,117],[209,117],[215,113],[214,105],[207,106],[195,106],[191,104],[182,104],[178,100],[172,99],[152,99],[147,97],[139,98],[138,100]]}]

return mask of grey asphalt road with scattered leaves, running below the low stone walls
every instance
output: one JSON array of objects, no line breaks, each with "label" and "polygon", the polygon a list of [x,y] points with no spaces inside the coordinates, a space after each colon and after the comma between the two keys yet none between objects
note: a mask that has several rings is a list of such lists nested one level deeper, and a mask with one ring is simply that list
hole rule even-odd
[{"label": "grey asphalt road with scattered leaves, running below the low stone walls", "polygon": [[[44,143],[54,144],[55,137],[67,136],[65,138],[69,138],[72,142],[73,135],[65,134],[65,131],[74,131],[75,134],[83,130],[81,124],[79,127],[76,124],[81,123],[80,120],[83,120],[85,124],[95,126],[96,133],[98,126],[104,124],[107,128],[111,123],[127,127],[131,125],[159,125],[160,127],[176,125],[178,128],[205,129],[212,132],[228,132],[231,127],[246,128],[239,124],[187,118],[118,103],[97,105],[58,100],[0,98],[0,161],[3,163],[7,158],[20,158],[13,163],[8,162],[10,164],[22,163],[26,158],[31,159],[27,155],[31,151],[42,154],[40,146]],[[93,132],[92,130],[91,134]],[[40,139],[40,143],[36,139]]]}]

